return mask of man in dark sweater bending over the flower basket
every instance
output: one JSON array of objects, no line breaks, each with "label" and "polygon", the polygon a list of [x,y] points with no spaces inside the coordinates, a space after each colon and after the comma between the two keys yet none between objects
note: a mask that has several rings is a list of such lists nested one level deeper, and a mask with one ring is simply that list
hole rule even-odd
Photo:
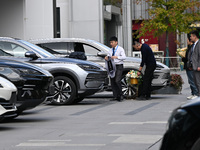
[{"label": "man in dark sweater bending over the flower basket", "polygon": [[151,83],[153,80],[153,73],[156,69],[156,60],[152,49],[147,44],[141,44],[137,41],[133,42],[133,48],[140,50],[142,54],[142,62],[138,71],[138,75],[141,75],[141,71],[145,65],[145,71],[143,76],[143,84],[141,95],[137,100],[150,100],[151,99]]}]

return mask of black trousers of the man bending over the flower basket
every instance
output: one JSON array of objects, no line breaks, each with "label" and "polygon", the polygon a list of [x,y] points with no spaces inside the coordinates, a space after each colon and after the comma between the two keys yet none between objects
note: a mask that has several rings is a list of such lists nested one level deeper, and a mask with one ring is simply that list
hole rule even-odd
[{"label": "black trousers of the man bending over the flower basket", "polygon": [[156,69],[156,65],[148,65],[146,66],[145,73],[143,76],[143,83],[141,88],[141,95],[145,97],[151,96],[151,83],[153,80],[153,73]]}]

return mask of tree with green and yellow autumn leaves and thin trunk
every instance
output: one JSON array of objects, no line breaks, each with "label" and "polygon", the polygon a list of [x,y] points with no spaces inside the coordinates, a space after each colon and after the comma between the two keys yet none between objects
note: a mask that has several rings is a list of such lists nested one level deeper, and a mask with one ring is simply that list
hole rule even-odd
[{"label": "tree with green and yellow autumn leaves and thin trunk", "polygon": [[[140,3],[141,0],[137,2]],[[145,0],[149,20],[143,20],[139,36],[153,34],[159,37],[166,33],[166,57],[169,56],[169,33],[181,34],[191,31],[190,25],[200,21],[199,0]],[[166,61],[169,66],[169,60]]]}]

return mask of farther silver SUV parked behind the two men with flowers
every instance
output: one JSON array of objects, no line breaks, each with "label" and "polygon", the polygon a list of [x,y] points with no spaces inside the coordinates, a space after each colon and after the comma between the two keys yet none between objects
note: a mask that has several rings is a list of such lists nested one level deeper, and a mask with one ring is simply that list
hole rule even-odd
[{"label": "farther silver SUV parked behind the two men with flowers", "polygon": [[[30,40],[31,43],[37,44],[48,52],[58,57],[70,57],[74,52],[84,52],[87,60],[93,61],[105,67],[104,57],[109,51],[109,47],[94,40],[81,39],[81,38],[52,38],[52,39],[36,39]],[[127,57],[124,62],[124,71],[122,78],[122,91],[127,95],[129,91],[125,75],[130,70],[138,70],[141,59]],[[152,81],[153,90],[157,90],[167,86],[169,83],[170,69],[157,62],[157,67],[154,72],[154,79]],[[136,94],[131,91],[131,94]]]}]

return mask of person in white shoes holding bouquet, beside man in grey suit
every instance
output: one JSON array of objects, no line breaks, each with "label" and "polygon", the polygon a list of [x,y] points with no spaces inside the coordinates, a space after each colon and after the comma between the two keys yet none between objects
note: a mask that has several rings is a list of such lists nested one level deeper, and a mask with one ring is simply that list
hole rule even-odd
[{"label": "person in white shoes holding bouquet, beside man in grey suit", "polygon": [[188,96],[187,99],[191,100],[191,99],[197,98],[198,90],[197,90],[196,85],[194,83],[193,69],[188,66],[188,61],[190,60],[190,58],[188,56],[191,56],[191,47],[193,46],[193,43],[191,42],[190,37],[187,38],[187,45],[188,45],[187,51],[186,51],[185,57],[182,58],[182,61],[184,62],[183,68],[186,70],[188,83],[189,83],[190,89],[191,89],[191,96]]}]

